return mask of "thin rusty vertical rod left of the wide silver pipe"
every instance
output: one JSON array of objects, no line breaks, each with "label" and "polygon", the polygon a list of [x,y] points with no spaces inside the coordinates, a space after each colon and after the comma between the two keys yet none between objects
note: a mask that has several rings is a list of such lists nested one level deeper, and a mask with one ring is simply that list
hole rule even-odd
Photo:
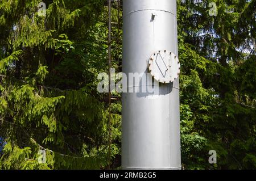
[{"label": "thin rusty vertical rod left of the wide silver pipe", "polygon": [[108,169],[110,170],[111,159],[111,0],[109,0],[109,39],[108,39],[108,57],[109,57],[109,137],[108,137]]}]

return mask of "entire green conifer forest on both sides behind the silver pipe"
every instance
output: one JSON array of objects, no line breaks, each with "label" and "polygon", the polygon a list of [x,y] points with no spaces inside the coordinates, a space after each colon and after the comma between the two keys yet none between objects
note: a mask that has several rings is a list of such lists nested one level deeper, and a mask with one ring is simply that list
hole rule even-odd
[{"label": "entire green conifer forest on both sides behind the silver pipe", "polygon": [[[255,5],[177,0],[183,169],[256,169]],[[121,72],[122,1],[113,1],[112,24]],[[107,1],[1,0],[0,169],[120,169],[121,94],[113,93],[108,151],[102,72]]]}]

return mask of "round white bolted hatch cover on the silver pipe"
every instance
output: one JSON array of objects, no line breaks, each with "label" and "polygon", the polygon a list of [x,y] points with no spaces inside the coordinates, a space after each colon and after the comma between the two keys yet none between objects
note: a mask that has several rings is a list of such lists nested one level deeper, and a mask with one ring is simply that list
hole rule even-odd
[{"label": "round white bolted hatch cover on the silver pipe", "polygon": [[170,83],[179,77],[180,62],[171,51],[159,50],[151,55],[148,69],[156,81]]}]

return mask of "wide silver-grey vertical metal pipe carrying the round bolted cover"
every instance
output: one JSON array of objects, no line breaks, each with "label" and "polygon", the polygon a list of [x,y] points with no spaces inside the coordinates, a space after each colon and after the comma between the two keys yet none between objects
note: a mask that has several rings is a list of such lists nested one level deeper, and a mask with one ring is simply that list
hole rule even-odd
[{"label": "wide silver-grey vertical metal pipe carrying the round bolted cover", "polygon": [[[176,0],[123,0],[123,73],[146,73],[157,50],[178,54]],[[179,79],[123,93],[122,169],[181,169],[179,116]]]}]

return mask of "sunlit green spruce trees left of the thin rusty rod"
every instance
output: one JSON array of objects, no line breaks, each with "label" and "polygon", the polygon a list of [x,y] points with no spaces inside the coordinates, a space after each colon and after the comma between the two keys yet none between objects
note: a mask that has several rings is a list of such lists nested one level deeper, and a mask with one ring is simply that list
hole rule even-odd
[{"label": "sunlit green spruce trees left of the thin rusty rod", "polygon": [[[104,168],[108,112],[97,92],[108,45],[104,3],[43,2],[46,15],[39,0],[0,2],[0,168]],[[114,141],[121,122],[112,119]],[[119,148],[111,148],[113,158]]]}]

